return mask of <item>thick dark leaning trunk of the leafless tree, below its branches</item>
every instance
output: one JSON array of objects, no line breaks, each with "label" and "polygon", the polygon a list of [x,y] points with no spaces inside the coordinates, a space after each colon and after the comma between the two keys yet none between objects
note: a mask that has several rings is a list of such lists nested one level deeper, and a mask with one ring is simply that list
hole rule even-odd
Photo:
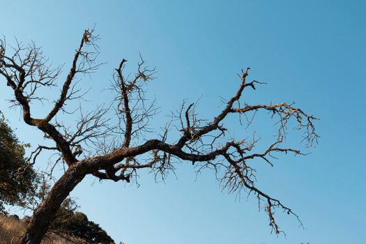
[{"label": "thick dark leaning trunk of the leafless tree, below its branches", "polygon": [[42,241],[63,200],[85,176],[86,172],[78,163],[71,165],[66,170],[65,174],[54,184],[45,200],[34,211],[21,244],[39,244]]}]

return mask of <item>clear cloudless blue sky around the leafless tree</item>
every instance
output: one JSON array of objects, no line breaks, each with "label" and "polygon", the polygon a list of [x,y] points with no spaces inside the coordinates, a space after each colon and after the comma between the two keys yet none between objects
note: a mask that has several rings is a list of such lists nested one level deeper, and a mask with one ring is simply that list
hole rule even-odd
[{"label": "clear cloudless blue sky around the leafless tree", "polygon": [[[308,1],[2,1],[0,33],[13,43],[36,40],[56,64],[66,63],[84,29],[96,24],[98,60],[107,62],[82,78],[89,107],[109,100],[113,68],[123,57],[130,67],[139,53],[156,66],[148,92],[166,114],[183,99],[199,98],[199,112],[210,119],[220,97],[237,89],[236,72],[250,66],[250,77],[268,84],[247,94],[247,102],[292,102],[321,120],[321,139],[305,157],[287,155],[275,167],[258,162],[258,185],[300,215],[277,213],[284,236],[270,234],[268,217],[255,197],[238,201],[221,192],[213,172],[195,180],[190,164],[176,177],[141,186],[98,183],[86,178],[72,192],[80,211],[126,244],[165,243],[363,243],[365,242],[365,70],[366,2]],[[63,74],[65,75],[65,74]],[[10,110],[11,93],[1,78],[0,110],[23,142],[42,135]],[[54,91],[56,94],[58,89]],[[48,106],[46,104],[46,106]],[[43,114],[36,107],[35,114]],[[262,118],[262,117],[261,117]],[[265,117],[263,117],[265,118]],[[235,119],[235,118],[233,118]],[[273,121],[257,121],[272,129]],[[298,146],[299,142],[293,142]],[[43,167],[46,162],[40,162]],[[43,165],[43,166],[42,166]]]}]

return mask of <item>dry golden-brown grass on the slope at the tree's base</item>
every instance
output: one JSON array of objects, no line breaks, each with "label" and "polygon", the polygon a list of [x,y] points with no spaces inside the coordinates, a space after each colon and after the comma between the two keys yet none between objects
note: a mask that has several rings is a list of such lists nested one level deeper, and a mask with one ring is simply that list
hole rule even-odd
[{"label": "dry golden-brown grass on the slope at the tree's base", "polygon": [[[0,215],[0,244],[18,244],[26,230],[26,224],[22,220],[15,220]],[[55,234],[47,234],[41,244],[89,244],[77,238],[61,238]]]}]

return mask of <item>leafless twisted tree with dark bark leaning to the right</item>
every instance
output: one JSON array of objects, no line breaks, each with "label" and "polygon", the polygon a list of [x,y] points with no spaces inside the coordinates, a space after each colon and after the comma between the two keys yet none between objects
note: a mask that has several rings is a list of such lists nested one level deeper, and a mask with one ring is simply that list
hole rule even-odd
[{"label": "leafless twisted tree with dark bark leaning to the right", "polygon": [[[56,85],[56,79],[61,76],[61,67],[52,68],[34,43],[26,46],[17,43],[10,51],[5,40],[0,43],[0,74],[13,90],[12,105],[21,107],[26,124],[35,126],[45,134],[45,139],[54,142],[54,146],[38,146],[31,154],[29,163],[36,162],[40,152],[47,150],[59,153],[60,157],[54,163],[63,162],[66,165],[63,176],[54,183],[47,197],[34,211],[22,239],[23,244],[40,243],[63,200],[86,175],[91,174],[101,180],[130,182],[135,180],[141,169],[150,169],[156,177],[165,178],[178,161],[190,162],[198,171],[213,169],[222,188],[229,193],[247,190],[256,195],[259,204],[264,201],[270,227],[276,234],[280,233],[274,218],[276,208],[298,218],[291,208],[256,187],[255,170],[250,166],[250,160],[262,159],[272,165],[270,158],[275,153],[302,154],[298,149],[282,145],[287,127],[293,121],[298,130],[305,133],[307,145],[312,146],[318,137],[312,115],[284,102],[271,105],[248,105],[242,102],[243,91],[256,89],[256,85],[261,83],[247,81],[250,69],[247,68],[238,74],[240,84],[234,96],[224,102],[222,111],[211,121],[199,119],[195,103],[186,105],[183,102],[162,133],[152,137],[155,139],[146,139],[153,135],[149,133],[148,121],[156,109],[154,102],[146,100],[145,91],[155,71],[146,68],[142,59],[135,74],[125,75],[127,61],[123,59],[113,74],[112,90],[116,97],[112,105],[100,106],[89,113],[79,109],[79,121],[70,127],[59,118],[62,114],[68,114],[66,102],[82,99],[83,93],[77,89],[75,77],[91,73],[99,66],[95,63],[98,54],[96,40],[98,36],[93,29],[84,31],[59,98],[42,118],[32,116],[31,103],[44,99],[38,90]],[[109,121],[108,114],[111,111],[114,111],[114,118],[117,119],[113,121],[117,123]],[[234,139],[228,135],[223,121],[229,114],[238,114],[239,118],[246,116],[248,123],[251,123],[250,118],[260,111],[268,112],[276,119],[278,130],[274,142],[264,151],[258,152],[256,137],[250,140]],[[173,142],[168,139],[171,128],[180,133],[180,137]]]}]

